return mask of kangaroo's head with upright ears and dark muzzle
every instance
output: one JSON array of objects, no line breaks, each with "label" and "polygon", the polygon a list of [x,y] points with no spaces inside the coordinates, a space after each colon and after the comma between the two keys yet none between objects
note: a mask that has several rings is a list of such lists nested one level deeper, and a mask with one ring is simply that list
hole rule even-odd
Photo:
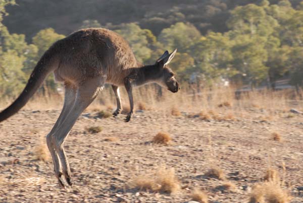
[{"label": "kangaroo's head with upright ears and dark muzzle", "polygon": [[160,70],[160,78],[157,82],[161,86],[168,88],[168,90],[174,93],[180,89],[180,85],[175,78],[174,72],[169,68],[168,64],[174,58],[176,52],[177,49],[175,49],[173,53],[169,54],[166,50],[155,64],[158,67],[158,70]]}]

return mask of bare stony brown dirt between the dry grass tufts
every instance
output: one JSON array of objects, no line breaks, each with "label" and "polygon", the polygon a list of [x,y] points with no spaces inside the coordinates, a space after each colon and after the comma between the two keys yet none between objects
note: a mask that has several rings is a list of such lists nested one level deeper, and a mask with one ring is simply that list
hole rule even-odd
[{"label": "bare stony brown dirt between the dry grass tufts", "polygon": [[[225,121],[174,117],[170,112],[140,111],[129,123],[118,118],[94,118],[86,111],[65,142],[74,186],[61,189],[52,160],[37,160],[41,136],[51,130],[59,110],[21,110],[0,123],[1,202],[187,202],[195,189],[205,190],[210,202],[248,202],[251,188],[269,167],[283,177],[291,202],[303,202],[303,115],[277,110],[264,119],[258,108],[243,110],[249,117]],[[86,128],[102,126],[99,133]],[[158,132],[167,132],[168,145],[153,144]],[[281,141],[272,139],[277,132]],[[106,137],[115,140],[106,141]],[[43,137],[44,138],[44,137]],[[44,139],[43,139],[44,141]],[[42,150],[43,151],[43,150]],[[181,189],[173,194],[146,191],[133,185],[139,174],[173,167]],[[226,180],[206,177],[210,168],[223,170]],[[282,179],[282,178],[281,178]],[[217,186],[231,182],[233,190]]]}]

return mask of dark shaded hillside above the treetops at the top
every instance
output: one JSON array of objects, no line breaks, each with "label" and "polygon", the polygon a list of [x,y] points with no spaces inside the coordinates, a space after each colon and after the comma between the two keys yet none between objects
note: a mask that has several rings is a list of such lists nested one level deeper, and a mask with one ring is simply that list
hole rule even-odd
[{"label": "dark shaded hillside above the treetops at the top", "polygon": [[[87,1],[38,1],[17,0],[17,5],[8,6],[9,16],[4,24],[11,33],[26,35],[27,41],[41,29],[52,27],[56,32],[67,35],[78,29],[84,20],[97,20],[101,25],[108,23],[138,22],[158,35],[163,28],[176,22],[190,22],[202,34],[209,30],[224,32],[229,11],[239,5],[258,3],[258,0],[87,0]],[[271,4],[279,1],[270,1]],[[300,1],[290,1],[295,7]]]}]

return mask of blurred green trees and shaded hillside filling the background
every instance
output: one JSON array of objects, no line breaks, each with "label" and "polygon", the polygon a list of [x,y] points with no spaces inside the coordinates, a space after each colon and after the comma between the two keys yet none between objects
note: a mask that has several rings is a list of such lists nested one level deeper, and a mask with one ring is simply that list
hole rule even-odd
[{"label": "blurred green trees and shaded hillside filling the background", "polygon": [[[0,92],[16,96],[22,90],[45,50],[65,37],[56,31],[68,34],[101,25],[121,34],[137,60],[144,64],[153,64],[165,50],[172,52],[178,48],[170,67],[181,82],[197,85],[218,80],[250,85],[270,82],[274,87],[278,79],[289,77],[291,84],[303,86],[301,1],[189,0],[177,4],[168,0],[159,2],[161,9],[158,0],[153,4],[145,4],[147,0],[143,0],[139,5],[133,0],[104,1],[102,5],[94,1],[84,8],[81,2],[71,0],[56,4],[25,0],[18,2],[19,7],[8,7],[15,3],[13,0],[0,0]],[[67,12],[64,22],[71,21],[68,26],[62,26],[55,17],[36,23],[39,29],[24,26],[29,21],[39,22],[44,4],[52,11],[49,16]],[[1,24],[8,14],[5,6],[11,14],[4,19],[9,29]],[[13,12],[14,9],[22,12]],[[84,11],[90,15],[83,15]],[[27,15],[23,18],[21,14]],[[19,22],[18,26],[13,26],[14,22]],[[45,29],[50,25],[56,31]],[[11,34],[9,30],[25,34]],[[43,89],[56,90],[56,87],[53,76],[43,84]]]}]

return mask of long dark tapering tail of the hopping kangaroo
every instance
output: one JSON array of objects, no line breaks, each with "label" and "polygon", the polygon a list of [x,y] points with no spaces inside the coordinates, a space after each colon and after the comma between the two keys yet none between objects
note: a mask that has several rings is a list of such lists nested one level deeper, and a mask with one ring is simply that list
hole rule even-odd
[{"label": "long dark tapering tail of the hopping kangaroo", "polygon": [[22,93],[13,104],[0,113],[0,122],[13,116],[24,107],[32,95],[41,86],[46,76],[58,68],[58,64],[58,58],[52,54],[51,48],[49,48],[37,63]]}]

